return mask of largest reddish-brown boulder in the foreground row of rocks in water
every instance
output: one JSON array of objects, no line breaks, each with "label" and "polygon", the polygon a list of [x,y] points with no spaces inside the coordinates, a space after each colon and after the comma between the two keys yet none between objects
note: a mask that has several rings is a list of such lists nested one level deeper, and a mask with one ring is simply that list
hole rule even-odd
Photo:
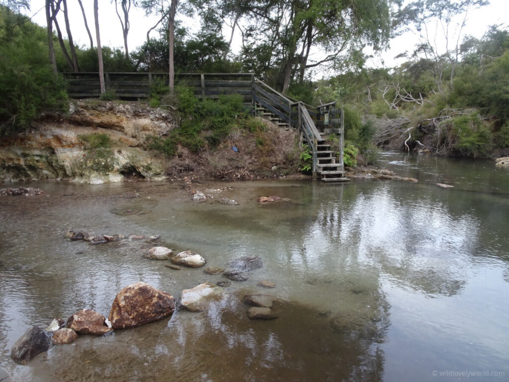
[{"label": "largest reddish-brown boulder in the foreground row of rocks in water", "polygon": [[117,293],[108,319],[114,329],[160,320],[175,311],[175,298],[147,283],[131,284]]}]

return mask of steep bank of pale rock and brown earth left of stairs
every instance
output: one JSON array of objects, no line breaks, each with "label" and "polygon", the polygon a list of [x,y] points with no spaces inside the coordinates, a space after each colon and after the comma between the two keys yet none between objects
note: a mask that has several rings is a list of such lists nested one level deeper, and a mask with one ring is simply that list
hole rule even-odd
[{"label": "steep bank of pale rock and brown earth left of stairs", "polygon": [[[262,136],[235,131],[218,147],[166,157],[147,139],[178,128],[177,117],[139,102],[74,101],[65,115],[45,114],[29,131],[0,143],[0,180],[59,179],[104,183],[163,179],[260,178],[291,172],[296,132],[266,123]],[[108,147],[87,137],[107,136]],[[237,151],[232,147],[235,146]],[[294,155],[295,156],[295,155]]]}]

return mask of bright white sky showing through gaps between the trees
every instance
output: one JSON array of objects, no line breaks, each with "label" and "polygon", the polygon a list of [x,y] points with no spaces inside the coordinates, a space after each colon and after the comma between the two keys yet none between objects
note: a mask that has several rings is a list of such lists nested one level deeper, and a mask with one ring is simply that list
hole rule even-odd
[{"label": "bright white sky showing through gaps between the trees", "polygon": [[[79,5],[76,0],[67,0],[67,2],[69,5],[69,19],[71,20],[71,32],[74,41],[77,45],[87,47],[89,46],[89,38],[84,28],[83,17],[81,15]],[[33,13],[37,12],[39,9],[42,8],[33,18],[33,20],[40,25],[46,24],[46,16],[43,8],[44,3],[45,3],[44,0],[32,0],[31,11],[26,12],[27,15],[32,16]],[[82,0],[82,3],[87,14],[87,22],[89,24],[92,37],[94,38],[95,46],[93,1]],[[129,50],[133,51],[136,47],[142,45],[145,42],[147,31],[158,21],[159,17],[157,17],[157,15],[146,17],[145,12],[143,10],[133,8],[130,12],[130,19],[131,28],[128,36],[128,43]],[[469,34],[473,35],[474,37],[480,38],[488,30],[489,25],[493,24],[507,25],[508,22],[509,22],[509,0],[490,0],[490,5],[472,11],[469,14],[467,20],[467,28],[463,30],[463,34]],[[63,19],[62,22],[60,22],[59,19],[59,23],[61,23],[61,29],[65,34],[65,26],[63,23]],[[122,38],[122,29],[120,26],[120,21],[117,17],[117,14],[115,13],[115,4],[111,4],[110,0],[99,0],[99,23],[102,45],[123,48],[124,42]],[[194,31],[199,29],[198,21],[186,18],[184,24]],[[223,33],[225,34],[225,38],[228,40],[230,38],[231,33],[230,28],[225,27]],[[152,31],[151,37],[156,36],[157,32]],[[393,58],[405,50],[411,50],[412,47],[415,45],[415,42],[416,36],[412,34],[408,34],[405,36],[401,36],[397,39],[394,39],[390,43],[391,47],[386,52],[380,54],[378,57],[370,60],[370,62],[368,62],[368,65],[373,67],[380,67],[382,66],[381,64],[382,60],[385,63],[385,66],[388,67],[402,64],[405,61],[405,59],[394,60]],[[240,46],[239,36],[236,36],[232,46],[234,49],[235,46],[237,46],[237,48]],[[318,54],[320,53],[319,52],[315,53],[315,56],[317,56]]]}]

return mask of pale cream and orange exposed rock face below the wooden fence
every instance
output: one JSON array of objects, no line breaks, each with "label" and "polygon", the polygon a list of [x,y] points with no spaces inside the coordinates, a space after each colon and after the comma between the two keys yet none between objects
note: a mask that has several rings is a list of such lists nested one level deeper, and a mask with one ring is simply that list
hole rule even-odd
[{"label": "pale cream and orange exposed rock face below the wooden fence", "polygon": [[[98,184],[122,181],[133,172],[165,177],[165,163],[139,146],[148,135],[173,129],[171,113],[135,103],[77,101],[74,106],[72,113],[33,121],[32,130],[0,142],[0,179]],[[115,148],[87,149],[80,137],[94,133],[108,135]]]}]

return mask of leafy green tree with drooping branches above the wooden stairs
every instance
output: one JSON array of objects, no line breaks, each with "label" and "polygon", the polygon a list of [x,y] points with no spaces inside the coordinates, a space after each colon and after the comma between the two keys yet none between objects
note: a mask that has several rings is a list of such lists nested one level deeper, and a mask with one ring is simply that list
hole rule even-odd
[{"label": "leafy green tree with drooping branches above the wooden stairs", "polygon": [[[389,39],[392,0],[257,0],[247,10],[252,23],[243,32],[243,59],[251,52],[268,60],[262,67],[279,67],[282,90],[304,80],[312,68],[344,68],[344,63],[366,45],[375,50]],[[329,52],[311,60],[313,51]],[[269,53],[269,52],[272,53]]]}]

